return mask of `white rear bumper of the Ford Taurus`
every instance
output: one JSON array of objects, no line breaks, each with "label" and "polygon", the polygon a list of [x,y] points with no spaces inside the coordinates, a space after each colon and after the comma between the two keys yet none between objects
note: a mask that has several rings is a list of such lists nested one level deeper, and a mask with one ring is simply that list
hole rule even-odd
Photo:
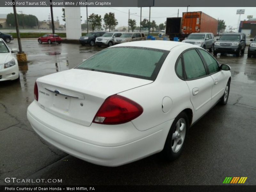
[{"label": "white rear bumper of the Ford Taurus", "polygon": [[119,166],[160,152],[173,120],[147,131],[131,122],[121,125],[91,124],[86,127],[54,116],[34,101],[28,121],[44,140],[77,158],[104,166]]}]

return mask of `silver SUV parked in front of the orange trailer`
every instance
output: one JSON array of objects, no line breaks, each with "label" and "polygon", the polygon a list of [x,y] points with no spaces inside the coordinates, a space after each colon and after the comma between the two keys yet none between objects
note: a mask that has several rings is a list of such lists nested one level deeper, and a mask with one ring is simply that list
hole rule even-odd
[{"label": "silver SUV parked in front of the orange trailer", "polygon": [[191,33],[182,42],[195,44],[212,52],[214,48],[214,35],[213,33]]}]

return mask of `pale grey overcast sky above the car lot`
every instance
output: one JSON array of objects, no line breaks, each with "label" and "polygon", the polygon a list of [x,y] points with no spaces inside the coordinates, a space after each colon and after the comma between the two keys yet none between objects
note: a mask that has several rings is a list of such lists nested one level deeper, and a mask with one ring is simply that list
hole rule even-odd
[{"label": "pale grey overcast sky above the car lot", "polygon": [[[50,8],[43,7],[17,7],[18,11],[23,11],[24,14],[33,14],[39,20],[48,20]],[[88,7],[88,16],[92,13],[99,14],[104,17],[106,12],[114,12],[118,21],[118,26],[128,26],[128,11],[130,9],[130,19],[137,21],[137,26],[140,26],[140,8],[137,7]],[[151,20],[155,20],[156,24],[164,23],[166,17],[177,17],[179,11],[179,17],[182,12],[187,11],[187,7],[151,7]],[[188,7],[188,11],[202,11],[215,19],[224,20],[227,26],[237,27],[239,15],[236,15],[237,9],[245,9],[245,14],[241,15],[241,20],[247,20],[247,15],[253,15],[256,18],[256,7]],[[0,7],[0,13],[8,14],[13,12],[12,7]],[[19,12],[18,12],[19,13]],[[136,13],[136,14],[133,14]],[[60,24],[64,24],[62,21],[61,7],[53,7],[54,20],[59,17]],[[82,23],[86,20],[86,8],[81,8]],[[148,19],[149,8],[142,8],[142,20]],[[103,24],[103,23],[102,23]]]}]

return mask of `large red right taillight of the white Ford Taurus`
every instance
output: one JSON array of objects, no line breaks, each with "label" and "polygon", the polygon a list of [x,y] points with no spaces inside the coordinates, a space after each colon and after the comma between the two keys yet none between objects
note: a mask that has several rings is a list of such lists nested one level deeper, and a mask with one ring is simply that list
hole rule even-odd
[{"label": "large red right taillight of the white Ford Taurus", "polygon": [[136,102],[120,95],[108,97],[96,113],[93,123],[122,124],[140,116],[143,108]]}]

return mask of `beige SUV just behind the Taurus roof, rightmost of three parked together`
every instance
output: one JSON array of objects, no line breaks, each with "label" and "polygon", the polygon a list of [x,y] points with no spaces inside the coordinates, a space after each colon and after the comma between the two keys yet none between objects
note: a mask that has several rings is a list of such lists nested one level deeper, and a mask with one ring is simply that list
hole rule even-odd
[{"label": "beige SUV just behind the Taurus roof, rightmost of three parked together", "polygon": [[142,41],[146,40],[144,33],[133,32],[133,33],[123,33],[120,37],[114,38],[114,44],[131,42],[131,41]]}]

